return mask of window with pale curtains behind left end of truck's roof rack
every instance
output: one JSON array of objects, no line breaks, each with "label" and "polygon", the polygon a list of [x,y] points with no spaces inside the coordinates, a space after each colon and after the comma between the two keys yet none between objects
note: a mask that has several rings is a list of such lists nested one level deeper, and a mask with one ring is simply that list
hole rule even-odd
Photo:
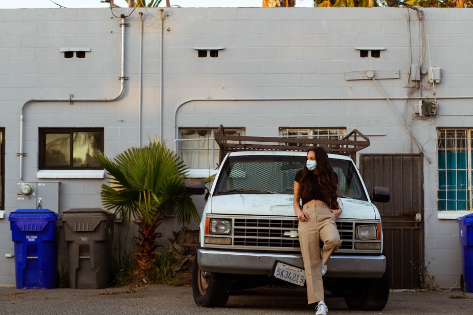
[{"label": "window with pale curtains behind left end of truck's roof rack", "polygon": [[[219,147],[214,140],[217,128],[179,129],[179,154],[191,169],[215,169],[219,159]],[[244,136],[244,128],[225,128],[232,136]]]}]

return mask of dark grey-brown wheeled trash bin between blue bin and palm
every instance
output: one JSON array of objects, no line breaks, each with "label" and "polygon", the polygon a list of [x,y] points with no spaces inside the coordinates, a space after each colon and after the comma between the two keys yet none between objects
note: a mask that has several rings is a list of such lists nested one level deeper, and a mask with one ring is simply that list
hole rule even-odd
[{"label": "dark grey-brown wheeled trash bin between blue bin and palm", "polygon": [[70,209],[62,214],[71,288],[109,285],[114,218],[98,208]]}]

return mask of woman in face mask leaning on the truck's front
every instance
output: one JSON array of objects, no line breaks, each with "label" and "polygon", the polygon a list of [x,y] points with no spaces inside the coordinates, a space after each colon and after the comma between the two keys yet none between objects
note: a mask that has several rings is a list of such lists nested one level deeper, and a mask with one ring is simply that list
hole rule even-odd
[{"label": "woman in face mask leaning on the truck's front", "polygon": [[[316,303],[316,315],[327,314],[324,303],[322,276],[327,271],[327,261],[342,241],[335,220],[342,214],[337,201],[338,177],[333,171],[327,152],[311,148],[306,165],[294,179],[294,210],[299,219],[299,242],[307,282],[308,304]],[[302,207],[300,201],[302,200]],[[324,246],[320,250],[319,242]]]}]

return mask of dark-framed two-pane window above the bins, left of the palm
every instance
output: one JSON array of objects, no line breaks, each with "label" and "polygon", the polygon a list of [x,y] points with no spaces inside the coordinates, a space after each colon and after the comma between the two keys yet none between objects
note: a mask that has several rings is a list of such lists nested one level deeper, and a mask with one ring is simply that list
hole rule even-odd
[{"label": "dark-framed two-pane window above the bins, left of the palm", "polygon": [[39,169],[102,169],[94,150],[103,151],[103,128],[39,129]]}]

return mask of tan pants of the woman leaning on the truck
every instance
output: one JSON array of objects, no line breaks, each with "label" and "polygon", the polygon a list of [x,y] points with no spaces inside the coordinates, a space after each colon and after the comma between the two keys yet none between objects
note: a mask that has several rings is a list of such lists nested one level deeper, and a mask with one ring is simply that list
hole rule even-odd
[{"label": "tan pants of the woman leaning on the truck", "polygon": [[307,302],[311,304],[324,301],[319,242],[324,242],[324,264],[327,264],[330,255],[340,247],[342,241],[336,228],[335,216],[327,206],[304,205],[302,210],[309,215],[309,220],[299,221],[297,231],[306,274]]}]

